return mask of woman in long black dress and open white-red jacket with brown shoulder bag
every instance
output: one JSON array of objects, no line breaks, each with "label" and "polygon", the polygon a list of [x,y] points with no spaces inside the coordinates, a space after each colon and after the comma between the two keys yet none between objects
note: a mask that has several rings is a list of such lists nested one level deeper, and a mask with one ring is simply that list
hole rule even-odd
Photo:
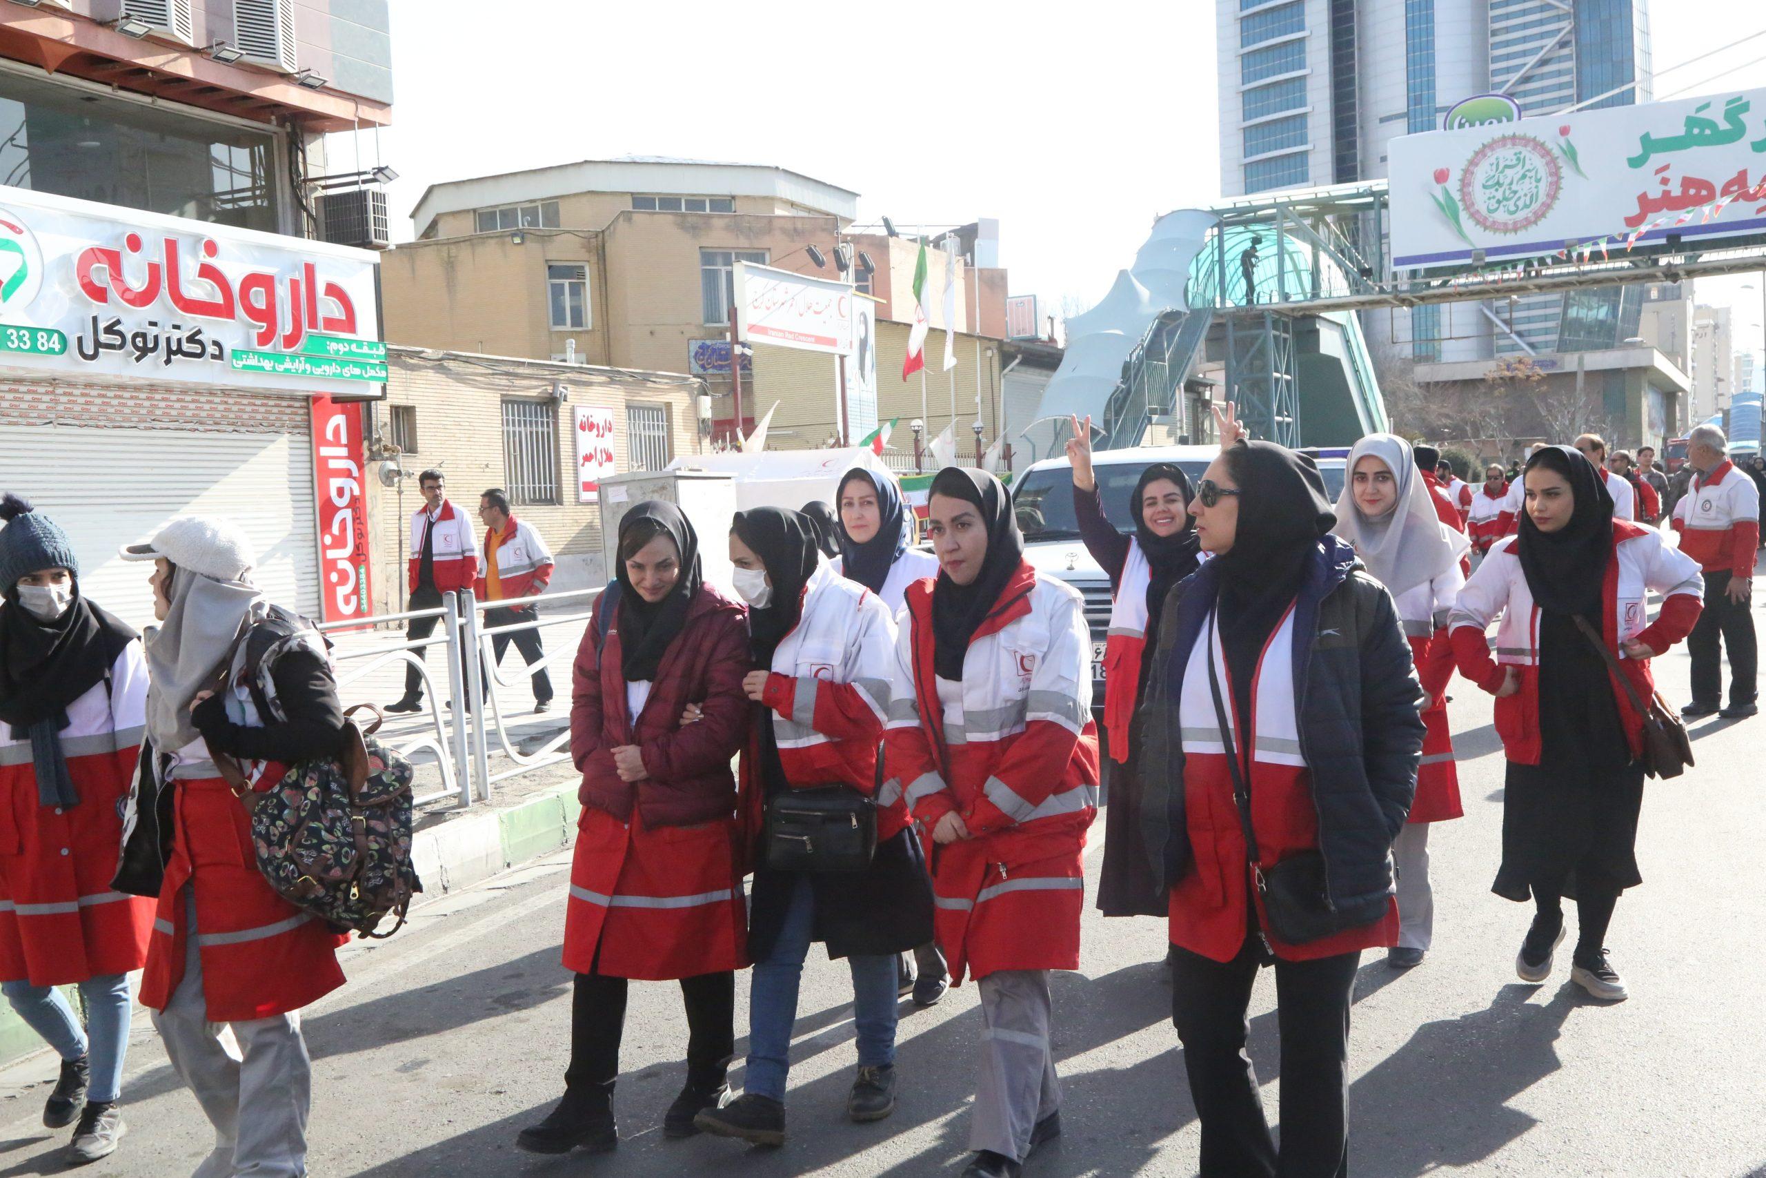
[{"label": "woman in long black dress and open white-red jacket with brown shoulder bag", "polygon": [[[1581,924],[1570,980],[1621,1001],[1625,982],[1602,941],[1619,892],[1642,883],[1642,717],[1577,620],[1600,632],[1626,683],[1649,699],[1649,659],[1692,631],[1704,585],[1697,562],[1660,532],[1612,517],[1600,473],[1570,447],[1535,452],[1524,479],[1521,533],[1491,549],[1448,618],[1460,675],[1496,696],[1508,756],[1503,865],[1491,890],[1536,906],[1515,961],[1522,982],[1551,975],[1568,895]],[[1664,595],[1653,623],[1651,590]],[[1496,618],[1492,661],[1483,632]]]}]

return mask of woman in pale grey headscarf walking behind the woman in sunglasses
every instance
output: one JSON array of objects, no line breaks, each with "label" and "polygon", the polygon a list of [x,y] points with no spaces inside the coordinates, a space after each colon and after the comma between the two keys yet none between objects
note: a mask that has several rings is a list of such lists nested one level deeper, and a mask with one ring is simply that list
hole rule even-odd
[{"label": "woman in pale grey headscarf walking behind the woman in sunglasses", "polygon": [[1418,470],[1411,443],[1388,433],[1362,438],[1349,452],[1349,480],[1337,500],[1332,532],[1355,547],[1367,570],[1392,593],[1423,683],[1423,759],[1416,770],[1416,802],[1392,855],[1399,869],[1399,943],[1386,964],[1422,964],[1434,936],[1434,894],[1429,890],[1429,823],[1460,818],[1459,772],[1446,728],[1446,683],[1453,648],[1446,615],[1466,585],[1459,560],[1466,533],[1441,521],[1432,489]]}]

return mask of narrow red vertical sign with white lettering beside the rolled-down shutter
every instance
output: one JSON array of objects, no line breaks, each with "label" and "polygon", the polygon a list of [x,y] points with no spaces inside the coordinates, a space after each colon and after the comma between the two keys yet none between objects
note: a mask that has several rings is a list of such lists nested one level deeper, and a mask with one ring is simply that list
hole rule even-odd
[{"label": "narrow red vertical sign with white lettering beside the rolled-down shutter", "polygon": [[313,397],[313,472],[318,491],[323,620],[366,618],[371,593],[360,403]]}]

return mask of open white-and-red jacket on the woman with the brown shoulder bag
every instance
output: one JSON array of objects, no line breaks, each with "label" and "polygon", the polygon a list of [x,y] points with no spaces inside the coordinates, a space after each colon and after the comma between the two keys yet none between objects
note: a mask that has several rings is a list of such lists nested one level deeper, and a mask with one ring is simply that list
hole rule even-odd
[{"label": "open white-and-red jacket on the woman with the brown shoulder bag", "polygon": [[[1538,765],[1540,609],[1533,604],[1533,592],[1521,570],[1519,542],[1503,539],[1491,549],[1466,588],[1459,592],[1459,600],[1448,616],[1448,631],[1459,673],[1487,692],[1496,694],[1503,685],[1506,668],[1521,669],[1521,691],[1496,701],[1496,735],[1510,761]],[[1664,595],[1655,622],[1649,622],[1649,592]],[[1600,632],[1641,699],[1649,699],[1655,692],[1649,662],[1626,659],[1621,643],[1635,638],[1651,650],[1667,650],[1692,631],[1702,600],[1704,581],[1699,578],[1697,562],[1669,544],[1655,528],[1625,519],[1612,521],[1612,560],[1607,562],[1607,581],[1602,590]],[[1483,631],[1498,618],[1501,620],[1496,627],[1492,659]],[[1612,694],[1632,744],[1632,756],[1641,756],[1642,717],[1635,714],[1618,683]]]}]

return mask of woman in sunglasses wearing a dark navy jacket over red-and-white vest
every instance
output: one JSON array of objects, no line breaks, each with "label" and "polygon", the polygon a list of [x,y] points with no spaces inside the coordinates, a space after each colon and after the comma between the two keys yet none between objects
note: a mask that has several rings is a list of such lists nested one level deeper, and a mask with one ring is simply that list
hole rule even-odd
[{"label": "woman in sunglasses wearing a dark navy jacket over red-and-white vest", "polygon": [[[1355,970],[1399,933],[1388,851],[1416,788],[1422,691],[1392,597],[1330,533],[1309,461],[1238,442],[1190,510],[1213,560],[1166,602],[1141,775],[1201,1171],[1330,1178],[1346,1166]],[[1280,1152],[1245,1054],[1272,963]]]}]

